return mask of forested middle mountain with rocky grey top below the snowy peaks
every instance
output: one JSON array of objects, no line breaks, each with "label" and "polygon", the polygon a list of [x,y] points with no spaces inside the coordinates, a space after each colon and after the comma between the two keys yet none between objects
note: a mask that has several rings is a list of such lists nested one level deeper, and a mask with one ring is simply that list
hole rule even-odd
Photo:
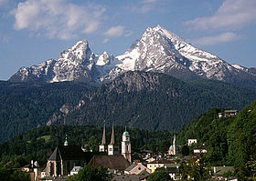
[{"label": "forested middle mountain with rocky grey top below the snowy peaks", "polygon": [[153,72],[125,72],[85,94],[76,106],[61,106],[49,125],[107,124],[141,129],[179,129],[211,107],[242,106],[255,100],[254,91],[212,80],[184,82]]}]

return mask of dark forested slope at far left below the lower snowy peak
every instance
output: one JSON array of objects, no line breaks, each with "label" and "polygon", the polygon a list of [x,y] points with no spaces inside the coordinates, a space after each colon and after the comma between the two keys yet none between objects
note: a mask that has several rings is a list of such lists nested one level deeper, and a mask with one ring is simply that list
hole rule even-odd
[{"label": "dark forested slope at far left below the lower snowy peak", "polygon": [[93,85],[75,82],[0,82],[0,142],[37,126],[46,125],[60,106],[76,105]]}]

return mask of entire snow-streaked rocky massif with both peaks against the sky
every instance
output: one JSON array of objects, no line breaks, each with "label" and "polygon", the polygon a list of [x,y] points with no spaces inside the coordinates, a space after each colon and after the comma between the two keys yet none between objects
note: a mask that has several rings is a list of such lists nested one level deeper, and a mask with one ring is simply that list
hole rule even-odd
[{"label": "entire snow-streaked rocky massif with both peaks against the sky", "polygon": [[58,60],[20,68],[10,80],[99,82],[127,71],[159,72],[185,80],[206,78],[256,89],[255,68],[230,65],[160,25],[148,27],[123,55],[95,55],[83,40],[62,52]]}]

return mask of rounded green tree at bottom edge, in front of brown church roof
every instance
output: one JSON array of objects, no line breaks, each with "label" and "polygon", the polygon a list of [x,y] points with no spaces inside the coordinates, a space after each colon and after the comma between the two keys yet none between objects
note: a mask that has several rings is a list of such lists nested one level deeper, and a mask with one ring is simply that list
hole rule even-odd
[{"label": "rounded green tree at bottom edge, in front of brown church roof", "polygon": [[85,166],[77,175],[70,176],[68,181],[110,181],[112,175],[106,167]]}]

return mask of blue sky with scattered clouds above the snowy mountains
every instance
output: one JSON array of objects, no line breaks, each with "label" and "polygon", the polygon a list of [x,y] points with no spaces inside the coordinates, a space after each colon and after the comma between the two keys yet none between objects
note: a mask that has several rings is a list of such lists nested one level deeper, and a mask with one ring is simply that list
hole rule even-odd
[{"label": "blue sky with scattered clouds above the snowy mountains", "polygon": [[0,80],[80,39],[100,55],[123,54],[162,25],[230,64],[256,67],[255,0],[0,0]]}]

